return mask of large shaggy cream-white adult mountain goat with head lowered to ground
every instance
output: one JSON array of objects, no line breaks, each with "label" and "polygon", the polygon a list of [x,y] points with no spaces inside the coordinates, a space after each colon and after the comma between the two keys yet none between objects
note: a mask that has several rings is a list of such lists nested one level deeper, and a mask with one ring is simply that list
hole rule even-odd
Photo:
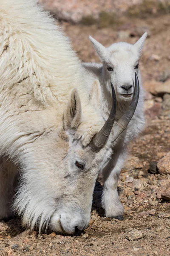
[{"label": "large shaggy cream-white adult mountain goat with head lowered to ground", "polygon": [[[113,86],[104,122],[88,100],[82,72],[68,38],[34,0],[0,0],[0,155],[20,167],[18,173],[2,158],[1,219],[17,212],[24,226],[39,231],[88,226],[97,175],[122,131],[113,125]],[[135,88],[119,120],[125,127],[139,98],[137,76]]]}]

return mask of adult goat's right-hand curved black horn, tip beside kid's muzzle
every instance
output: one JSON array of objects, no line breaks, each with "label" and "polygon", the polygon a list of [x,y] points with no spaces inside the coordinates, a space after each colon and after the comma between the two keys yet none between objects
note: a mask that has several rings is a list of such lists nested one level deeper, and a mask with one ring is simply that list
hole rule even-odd
[{"label": "adult goat's right-hand curved black horn, tip beside kid's muzzle", "polygon": [[113,142],[119,137],[120,134],[126,129],[128,123],[133,117],[133,114],[135,113],[136,106],[138,104],[139,100],[139,80],[138,76],[135,72],[135,88],[133,93],[133,99],[130,104],[129,109],[127,112],[119,119],[118,122],[115,122],[113,125]]}]

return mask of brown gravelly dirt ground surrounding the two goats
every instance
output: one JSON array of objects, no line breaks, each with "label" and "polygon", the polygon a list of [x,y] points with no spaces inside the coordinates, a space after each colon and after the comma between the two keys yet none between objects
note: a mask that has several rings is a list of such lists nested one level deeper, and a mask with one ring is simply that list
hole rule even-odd
[{"label": "brown gravelly dirt ground surrounding the two goats", "polygon": [[[74,49],[83,61],[99,61],[88,35],[105,46],[117,41],[135,43],[147,30],[140,69],[144,84],[159,81],[170,71],[170,15],[145,20],[127,19],[119,27],[99,29],[62,23]],[[169,71],[168,71],[169,70]],[[170,80],[169,80],[170,81]],[[170,85],[169,85],[170,86]],[[130,145],[130,158],[119,178],[119,194],[125,207],[124,220],[105,218],[100,205],[102,185],[97,182],[89,227],[81,234],[29,233],[20,219],[0,222],[0,256],[167,256],[170,255],[170,201],[161,198],[170,175],[153,174],[157,163],[170,151],[170,109],[164,111],[164,98],[147,99],[147,125]],[[169,99],[170,100],[170,99]]]}]

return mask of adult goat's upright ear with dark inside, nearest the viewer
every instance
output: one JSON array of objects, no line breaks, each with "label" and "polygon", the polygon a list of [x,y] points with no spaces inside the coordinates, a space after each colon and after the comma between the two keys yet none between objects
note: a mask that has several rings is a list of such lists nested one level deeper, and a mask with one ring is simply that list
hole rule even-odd
[{"label": "adult goat's upright ear with dark inside, nearest the viewer", "polygon": [[67,108],[63,115],[63,128],[77,128],[81,122],[82,108],[77,89],[72,90]]}]

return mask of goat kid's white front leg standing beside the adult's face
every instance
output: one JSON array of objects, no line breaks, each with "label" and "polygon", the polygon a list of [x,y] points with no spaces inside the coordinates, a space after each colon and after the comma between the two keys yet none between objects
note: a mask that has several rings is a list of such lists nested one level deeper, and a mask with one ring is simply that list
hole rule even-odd
[{"label": "goat kid's white front leg standing beside the adult's face", "polygon": [[102,171],[104,181],[102,207],[105,209],[105,216],[120,220],[123,219],[124,207],[119,199],[117,183],[124,161],[125,153],[115,153]]}]

